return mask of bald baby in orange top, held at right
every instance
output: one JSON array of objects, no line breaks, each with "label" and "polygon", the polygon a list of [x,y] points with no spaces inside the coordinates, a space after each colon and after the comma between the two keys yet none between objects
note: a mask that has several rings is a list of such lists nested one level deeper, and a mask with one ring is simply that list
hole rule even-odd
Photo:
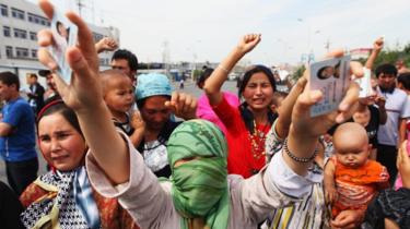
[{"label": "bald baby in orange top, held at right", "polygon": [[333,134],[336,156],[325,167],[325,195],[331,204],[332,217],[349,209],[361,209],[378,190],[389,186],[384,166],[370,160],[368,137],[359,123],[341,124]]}]

